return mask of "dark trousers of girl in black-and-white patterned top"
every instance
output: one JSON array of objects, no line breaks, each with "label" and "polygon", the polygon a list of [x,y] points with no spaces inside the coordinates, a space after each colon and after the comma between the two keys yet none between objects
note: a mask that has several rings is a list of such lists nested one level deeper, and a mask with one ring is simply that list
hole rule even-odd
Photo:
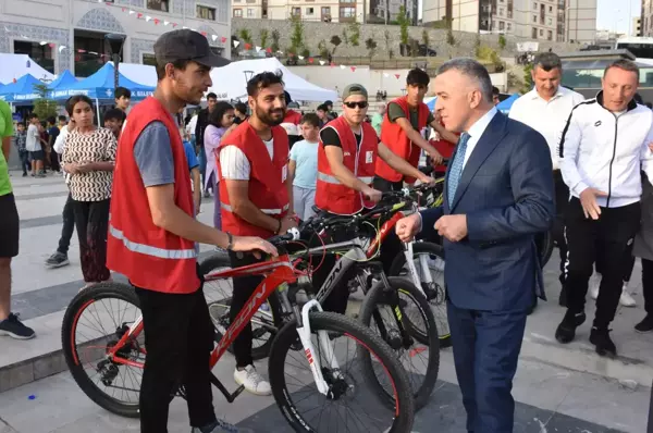
[{"label": "dark trousers of girl in black-and-white patterned top", "polygon": [[101,201],[71,200],[79,239],[79,261],[86,283],[109,280],[107,268],[107,235],[109,231],[109,199]]}]

